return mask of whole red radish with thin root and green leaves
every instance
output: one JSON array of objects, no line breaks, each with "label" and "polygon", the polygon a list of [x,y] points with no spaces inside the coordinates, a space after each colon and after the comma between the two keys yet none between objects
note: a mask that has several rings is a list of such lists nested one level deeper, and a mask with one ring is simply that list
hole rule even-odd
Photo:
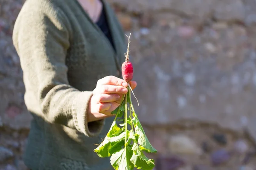
[{"label": "whole red radish with thin root and green leaves", "polygon": [[[154,159],[148,159],[143,152],[156,153],[157,150],[148,141],[131,101],[133,91],[129,82],[133,79],[133,65],[129,61],[130,36],[127,36],[128,48],[125,62],[122,63],[122,77],[128,82],[128,93],[121,105],[112,112],[116,115],[115,119],[102,143],[96,144],[98,147],[94,152],[102,158],[111,156],[110,162],[115,170],[134,170],[134,168],[152,170],[155,166]],[[123,114],[125,119],[120,119]],[[123,123],[117,125],[117,121],[123,121]],[[130,130],[128,125],[131,126]]]}]

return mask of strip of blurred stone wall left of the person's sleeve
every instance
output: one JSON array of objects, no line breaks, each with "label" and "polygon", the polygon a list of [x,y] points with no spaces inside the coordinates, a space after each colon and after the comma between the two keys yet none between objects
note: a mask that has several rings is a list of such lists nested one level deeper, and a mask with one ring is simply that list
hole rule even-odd
[{"label": "strip of blurred stone wall left of the person's sleeve", "polygon": [[22,70],[12,44],[12,29],[22,0],[0,1],[0,125],[29,128],[32,119],[24,105]]}]

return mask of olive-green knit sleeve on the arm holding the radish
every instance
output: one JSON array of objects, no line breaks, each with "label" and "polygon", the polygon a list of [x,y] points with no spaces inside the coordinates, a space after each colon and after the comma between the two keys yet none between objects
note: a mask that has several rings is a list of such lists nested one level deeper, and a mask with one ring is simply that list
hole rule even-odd
[{"label": "olive-green knit sleeve on the arm holding the radish", "polygon": [[101,132],[105,120],[88,123],[93,92],[69,85],[65,65],[70,47],[68,26],[64,14],[51,4],[24,4],[15,22],[13,43],[20,57],[26,91],[36,100],[36,105],[29,105],[28,109],[49,123],[93,137]]}]

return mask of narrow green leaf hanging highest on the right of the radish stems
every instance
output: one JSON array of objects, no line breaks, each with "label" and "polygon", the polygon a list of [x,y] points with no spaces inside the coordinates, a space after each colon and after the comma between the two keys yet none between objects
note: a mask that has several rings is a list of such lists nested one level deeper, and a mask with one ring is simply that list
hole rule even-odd
[{"label": "narrow green leaf hanging highest on the right of the radish stems", "polygon": [[138,143],[140,144],[140,149],[148,153],[156,153],[157,150],[150,144],[148,138],[143,130],[142,125],[137,117],[136,113],[133,113],[133,119],[131,121],[134,123],[134,130],[136,136],[138,136]]}]

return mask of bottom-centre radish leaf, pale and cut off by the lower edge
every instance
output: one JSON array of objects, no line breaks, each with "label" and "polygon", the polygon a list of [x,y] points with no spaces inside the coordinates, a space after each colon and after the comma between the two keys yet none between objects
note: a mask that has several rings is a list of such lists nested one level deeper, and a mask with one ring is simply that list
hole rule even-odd
[{"label": "bottom-centre radish leaf, pale and cut off by the lower edge", "polygon": [[133,170],[134,165],[130,159],[132,156],[131,147],[128,145],[111,156],[110,162],[115,170]]}]

